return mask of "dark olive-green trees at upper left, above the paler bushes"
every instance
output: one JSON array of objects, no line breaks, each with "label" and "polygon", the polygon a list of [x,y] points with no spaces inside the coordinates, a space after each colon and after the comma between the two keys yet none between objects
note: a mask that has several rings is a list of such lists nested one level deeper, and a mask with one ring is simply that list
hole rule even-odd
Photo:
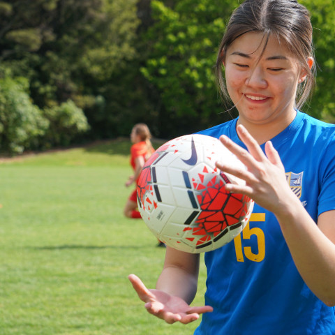
[{"label": "dark olive-green trees at upper left, above the paler bushes", "polygon": [[[10,68],[13,77],[27,77],[31,98],[40,109],[70,99],[88,115],[91,135],[104,133],[96,128],[103,124],[105,135],[115,137],[119,132],[114,132],[118,128],[113,123],[129,105],[133,91],[128,84],[133,79],[129,78],[138,73],[137,68],[132,71],[127,67],[136,57],[134,41],[140,24],[136,3],[137,0],[1,1],[2,67]],[[110,94],[120,87],[128,92],[124,101],[119,94]],[[101,104],[101,100],[107,103]]]}]

